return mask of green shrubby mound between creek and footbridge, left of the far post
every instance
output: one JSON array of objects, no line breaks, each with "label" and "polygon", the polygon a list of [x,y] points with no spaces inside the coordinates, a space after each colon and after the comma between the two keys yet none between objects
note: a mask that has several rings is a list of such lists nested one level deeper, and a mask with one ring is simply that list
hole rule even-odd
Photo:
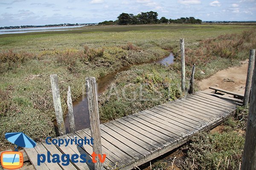
[{"label": "green shrubby mound between creek and footbridge, left of the far post", "polygon": [[117,119],[179,98],[182,94],[179,78],[175,71],[160,64],[133,66],[120,72],[99,97],[100,118]]}]

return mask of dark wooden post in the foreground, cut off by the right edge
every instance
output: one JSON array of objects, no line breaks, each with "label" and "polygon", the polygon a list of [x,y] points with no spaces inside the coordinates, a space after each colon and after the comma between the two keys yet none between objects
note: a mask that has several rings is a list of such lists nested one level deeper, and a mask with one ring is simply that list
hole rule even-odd
[{"label": "dark wooden post in the foreground, cut off by the right edge", "polygon": [[250,108],[241,170],[256,170],[256,65],[254,65]]}]

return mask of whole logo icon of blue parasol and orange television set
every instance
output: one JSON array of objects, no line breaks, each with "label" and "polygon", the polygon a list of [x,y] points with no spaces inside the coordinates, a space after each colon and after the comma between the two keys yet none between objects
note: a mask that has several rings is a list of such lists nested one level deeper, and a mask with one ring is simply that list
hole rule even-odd
[{"label": "whole logo icon of blue parasol and orange television set", "polygon": [[[32,148],[36,143],[22,132],[6,133],[6,139],[19,147]],[[6,151],[1,153],[2,167],[9,170],[18,169],[23,166],[23,154],[18,152],[18,147],[15,146],[15,151]]]}]

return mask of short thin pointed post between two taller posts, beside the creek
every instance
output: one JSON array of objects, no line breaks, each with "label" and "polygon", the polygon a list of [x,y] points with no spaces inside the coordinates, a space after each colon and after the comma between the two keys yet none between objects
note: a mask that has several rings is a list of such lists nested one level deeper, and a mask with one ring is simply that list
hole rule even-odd
[{"label": "short thin pointed post between two taller posts, beside the creek", "polygon": [[75,120],[74,120],[73,103],[72,103],[70,86],[68,86],[68,91],[67,91],[67,107],[68,107],[68,118],[70,123],[70,133],[74,133],[76,131],[76,126],[75,126]]}]

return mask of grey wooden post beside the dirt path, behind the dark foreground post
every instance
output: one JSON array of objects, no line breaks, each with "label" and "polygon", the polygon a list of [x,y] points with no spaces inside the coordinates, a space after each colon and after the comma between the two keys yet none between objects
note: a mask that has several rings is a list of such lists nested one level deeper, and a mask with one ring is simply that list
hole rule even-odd
[{"label": "grey wooden post beside the dirt path, behind the dark foreground post", "polygon": [[244,106],[247,106],[249,103],[254,64],[255,64],[255,49],[253,50],[251,49],[249,63],[248,63],[246,85],[245,85],[245,91],[244,91],[244,102],[243,102]]}]

